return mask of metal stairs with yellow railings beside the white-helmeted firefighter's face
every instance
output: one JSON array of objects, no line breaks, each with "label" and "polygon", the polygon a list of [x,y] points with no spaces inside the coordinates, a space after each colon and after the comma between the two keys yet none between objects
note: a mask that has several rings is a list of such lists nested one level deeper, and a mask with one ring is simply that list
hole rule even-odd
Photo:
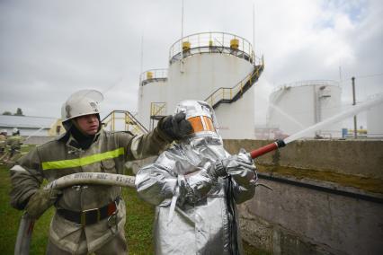
[{"label": "metal stairs with yellow railings beside the white-helmeted firefighter's face", "polygon": [[126,131],[134,135],[144,135],[148,132],[129,110],[112,110],[101,122],[105,129],[112,132]]}]

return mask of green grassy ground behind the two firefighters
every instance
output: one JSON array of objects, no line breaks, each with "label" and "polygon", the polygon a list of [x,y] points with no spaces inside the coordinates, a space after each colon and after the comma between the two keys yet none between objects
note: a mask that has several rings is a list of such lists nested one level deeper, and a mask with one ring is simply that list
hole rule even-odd
[{"label": "green grassy ground behind the two firefighters", "polygon": [[[11,189],[9,171],[0,165],[0,254],[13,254],[18,225],[22,212],[9,205]],[[129,254],[153,254],[152,225],[155,208],[140,200],[134,189],[123,189],[122,197],[127,205],[125,232],[128,239]],[[41,216],[34,226],[31,254],[45,254],[49,223],[53,208]],[[245,254],[267,254],[244,243]]]}]

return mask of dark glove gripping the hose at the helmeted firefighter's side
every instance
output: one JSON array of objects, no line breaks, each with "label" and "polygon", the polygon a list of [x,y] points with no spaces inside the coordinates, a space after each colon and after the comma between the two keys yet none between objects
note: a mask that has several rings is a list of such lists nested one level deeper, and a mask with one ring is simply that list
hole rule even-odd
[{"label": "dark glove gripping the hose at the helmeted firefighter's side", "polygon": [[53,206],[59,196],[62,195],[58,189],[38,189],[28,201],[25,210],[31,218],[37,220],[40,215],[44,214],[49,207]]}]

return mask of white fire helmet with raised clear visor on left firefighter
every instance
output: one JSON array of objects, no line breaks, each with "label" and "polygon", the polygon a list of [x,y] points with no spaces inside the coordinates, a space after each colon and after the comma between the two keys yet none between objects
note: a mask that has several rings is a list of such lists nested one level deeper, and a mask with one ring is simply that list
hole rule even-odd
[{"label": "white fire helmet with raised clear visor on left firefighter", "polygon": [[73,93],[61,107],[62,122],[84,115],[99,114],[99,103],[102,100],[102,93],[96,90],[82,90]]}]

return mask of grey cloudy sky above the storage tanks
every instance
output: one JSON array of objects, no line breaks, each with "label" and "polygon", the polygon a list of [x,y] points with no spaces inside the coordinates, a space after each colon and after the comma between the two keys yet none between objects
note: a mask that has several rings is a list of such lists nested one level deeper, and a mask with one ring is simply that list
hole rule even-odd
[{"label": "grey cloudy sky above the storage tanks", "polygon": [[[181,0],[1,0],[0,113],[59,117],[68,95],[88,88],[104,93],[104,113],[136,111],[139,74],[167,67],[181,16]],[[255,98],[262,122],[281,84],[341,80],[343,104],[352,76],[358,101],[383,92],[382,16],[380,0],[184,0],[183,34],[253,41],[255,31],[266,65]]]}]

